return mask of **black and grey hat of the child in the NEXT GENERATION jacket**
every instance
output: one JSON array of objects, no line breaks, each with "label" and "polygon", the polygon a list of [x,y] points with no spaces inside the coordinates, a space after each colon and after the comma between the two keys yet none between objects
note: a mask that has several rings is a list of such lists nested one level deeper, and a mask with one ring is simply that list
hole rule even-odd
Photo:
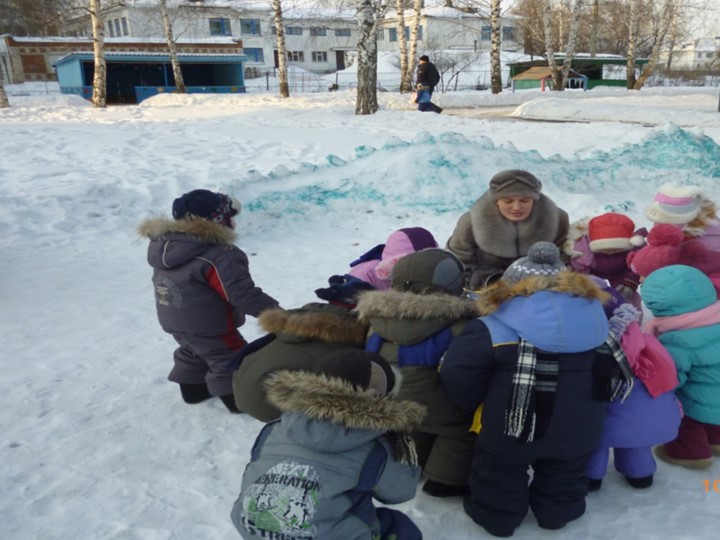
[{"label": "black and grey hat of the child in the NEXT GENERATION jacket", "polygon": [[397,393],[396,374],[377,353],[339,349],[320,358],[315,372],[347,381],[357,390],[372,390],[380,396]]}]

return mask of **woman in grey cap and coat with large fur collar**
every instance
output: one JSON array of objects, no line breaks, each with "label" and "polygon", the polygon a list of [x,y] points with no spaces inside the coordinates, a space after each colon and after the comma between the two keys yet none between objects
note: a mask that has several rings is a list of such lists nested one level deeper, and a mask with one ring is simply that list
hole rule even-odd
[{"label": "woman in grey cap and coat with large fur collar", "polygon": [[468,288],[477,290],[499,279],[535,242],[563,245],[568,215],[541,190],[542,182],[527,171],[502,171],[460,216],[446,247],[465,265]]}]

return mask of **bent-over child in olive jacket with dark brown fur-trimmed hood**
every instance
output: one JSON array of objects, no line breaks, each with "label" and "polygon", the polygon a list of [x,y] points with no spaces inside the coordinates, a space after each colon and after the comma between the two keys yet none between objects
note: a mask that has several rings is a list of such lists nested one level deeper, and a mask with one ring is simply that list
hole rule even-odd
[{"label": "bent-over child in olive jacket with dark brown fur-trimmed hood", "polygon": [[238,408],[261,422],[280,417],[267,400],[266,378],[283,369],[315,369],[320,358],[338,349],[365,347],[368,325],[348,308],[312,302],[298,309],[268,309],[258,322],[267,335],[239,353],[240,367],[233,374]]}]

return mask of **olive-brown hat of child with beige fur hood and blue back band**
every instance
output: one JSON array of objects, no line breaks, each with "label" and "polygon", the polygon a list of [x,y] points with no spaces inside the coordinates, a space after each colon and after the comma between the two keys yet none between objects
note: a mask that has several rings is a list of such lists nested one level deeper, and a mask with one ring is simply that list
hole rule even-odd
[{"label": "olive-brown hat of child with beige fur hood and blue back band", "polygon": [[463,292],[463,264],[444,249],[423,249],[400,259],[392,271],[391,286],[396,291],[416,294]]}]

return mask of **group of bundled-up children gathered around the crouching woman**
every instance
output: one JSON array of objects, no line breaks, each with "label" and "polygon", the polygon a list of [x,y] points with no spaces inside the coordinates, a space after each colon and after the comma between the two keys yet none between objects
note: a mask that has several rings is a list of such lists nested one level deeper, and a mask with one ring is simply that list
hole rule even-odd
[{"label": "group of bundled-up children gathered around the crouching woman", "polygon": [[[140,233],[179,345],[169,379],[187,403],[218,396],[267,422],[232,509],[243,538],[421,539],[373,504],[412,499],[421,476],[495,536],[529,509],[559,529],[611,451],[639,489],[653,448],[691,468],[720,455],[720,223],[698,189],[663,186],[649,232],[582,220],[562,251],[538,242],[472,292],[429,231],[399,229],[293,309],[254,284],[239,211],[195,190]],[[245,314],[265,332],[251,343]]]}]

